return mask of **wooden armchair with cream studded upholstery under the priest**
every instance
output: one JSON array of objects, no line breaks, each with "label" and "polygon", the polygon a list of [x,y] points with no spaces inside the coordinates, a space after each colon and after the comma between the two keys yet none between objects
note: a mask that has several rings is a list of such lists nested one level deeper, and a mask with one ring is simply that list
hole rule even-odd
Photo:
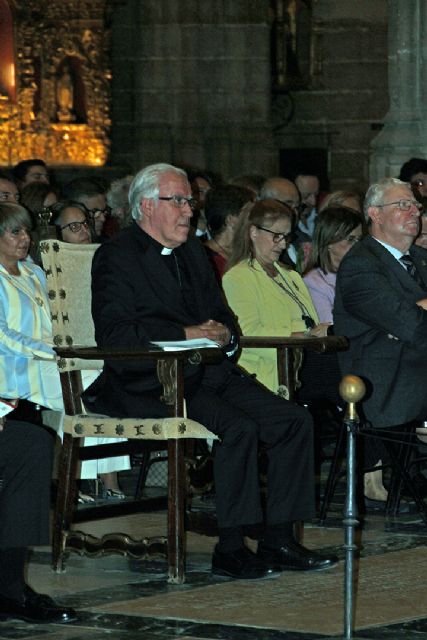
[{"label": "wooden armchair with cream studded upholstery under the priest", "polygon": [[[53,567],[56,571],[64,568],[64,554],[70,549],[89,554],[118,551],[135,557],[164,554],[168,559],[168,580],[182,583],[185,580],[185,441],[216,438],[201,424],[185,417],[183,368],[188,361],[218,361],[222,353],[219,349],[163,352],[150,350],[148,345],[147,349],[140,351],[105,350],[92,346],[95,340],[91,316],[91,263],[97,245],[46,240],[40,248],[48,282],[66,414],[54,516]],[[85,413],[80,399],[83,390],[81,372],[85,369],[99,370],[106,358],[154,361],[164,389],[163,400],[170,407],[171,416],[132,419]],[[70,530],[76,511],[74,498],[79,445],[81,438],[87,436],[128,438],[130,444],[135,441],[163,441],[168,451],[168,530],[165,538],[136,541],[125,534],[109,534],[98,540]],[[92,457],[105,457],[100,449],[105,448],[108,455],[111,447],[117,446],[86,447],[84,457],[89,457],[89,449],[94,450]],[[141,511],[141,505],[137,506]]]}]

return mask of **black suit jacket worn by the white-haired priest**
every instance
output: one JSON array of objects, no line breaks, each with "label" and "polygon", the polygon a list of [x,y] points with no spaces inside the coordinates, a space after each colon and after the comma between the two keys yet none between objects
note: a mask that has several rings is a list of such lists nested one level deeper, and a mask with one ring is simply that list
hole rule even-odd
[{"label": "black suit jacket worn by the white-haired priest", "polygon": [[[175,252],[189,279],[191,309],[165,258],[137,224],[97,250],[92,265],[92,315],[99,346],[147,348],[152,340],[184,340],[185,326],[210,318],[227,325],[237,340],[233,316],[223,302],[202,244],[189,239]],[[207,374],[213,385],[221,384],[224,369],[232,366],[228,361],[207,367],[186,365],[186,393],[196,390]],[[155,417],[164,413],[159,403],[161,391],[153,364],[109,361],[84,398],[92,410]]]}]

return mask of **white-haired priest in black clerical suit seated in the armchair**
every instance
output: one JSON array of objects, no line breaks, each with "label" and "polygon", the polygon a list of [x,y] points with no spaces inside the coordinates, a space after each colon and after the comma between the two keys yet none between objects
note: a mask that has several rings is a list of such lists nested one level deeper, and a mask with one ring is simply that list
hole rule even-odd
[{"label": "white-haired priest in black clerical suit seated in the armchair", "polygon": [[[206,253],[187,239],[192,216],[186,174],[171,165],[140,171],[129,191],[134,224],[98,249],[93,263],[93,317],[101,346],[141,347],[151,340],[210,338],[228,355],[238,333]],[[214,473],[219,544],[212,570],[262,578],[276,569],[335,564],[299,545],[293,523],[313,515],[312,424],[307,412],[261,388],[227,357],[218,365],[188,365],[187,413],[220,437]],[[110,415],[167,415],[154,368],[106,363],[86,393],[91,409]],[[253,554],[243,526],[262,521],[258,441],[266,444],[267,525]]]}]

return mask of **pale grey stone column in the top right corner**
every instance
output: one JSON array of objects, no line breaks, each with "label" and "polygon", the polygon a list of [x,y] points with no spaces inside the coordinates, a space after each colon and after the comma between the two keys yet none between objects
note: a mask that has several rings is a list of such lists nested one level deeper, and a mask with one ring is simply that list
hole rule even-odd
[{"label": "pale grey stone column in the top right corner", "polygon": [[388,0],[390,108],[371,142],[370,179],[398,176],[412,157],[427,158],[427,6]]}]

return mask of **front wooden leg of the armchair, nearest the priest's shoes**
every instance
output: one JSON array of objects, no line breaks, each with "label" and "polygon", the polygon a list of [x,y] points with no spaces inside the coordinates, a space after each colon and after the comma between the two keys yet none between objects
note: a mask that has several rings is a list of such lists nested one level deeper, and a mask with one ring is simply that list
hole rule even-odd
[{"label": "front wooden leg of the armchair, nearest the priest's shoes", "polygon": [[168,441],[168,582],[185,582],[185,442]]}]

